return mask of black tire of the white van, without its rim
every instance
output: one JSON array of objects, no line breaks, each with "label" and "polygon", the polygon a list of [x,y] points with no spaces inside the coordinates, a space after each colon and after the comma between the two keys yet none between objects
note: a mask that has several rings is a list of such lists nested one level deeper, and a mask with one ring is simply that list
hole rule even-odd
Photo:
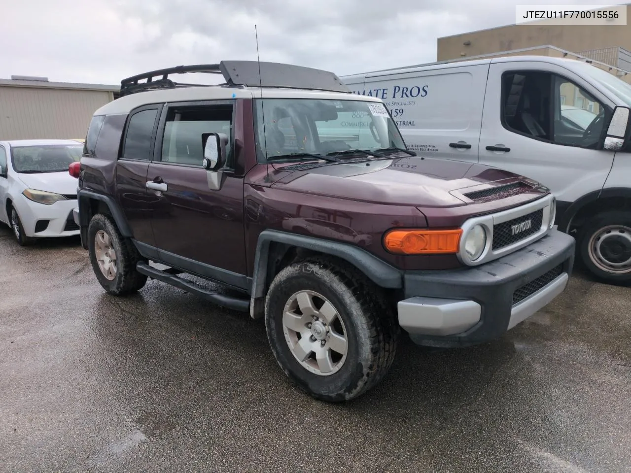
[{"label": "black tire of the white van, without its rim", "polygon": [[[631,271],[615,272],[605,271],[602,263],[594,261],[594,251],[590,251],[590,242],[601,230],[608,226],[618,226],[631,228],[631,212],[623,210],[612,210],[597,214],[589,219],[579,230],[577,235],[577,247],[581,255],[581,262],[587,267],[589,272],[604,283],[625,284],[631,282]],[[623,231],[624,233],[624,231]],[[626,231],[628,235],[628,231]],[[592,242],[593,243],[593,242]]]}]

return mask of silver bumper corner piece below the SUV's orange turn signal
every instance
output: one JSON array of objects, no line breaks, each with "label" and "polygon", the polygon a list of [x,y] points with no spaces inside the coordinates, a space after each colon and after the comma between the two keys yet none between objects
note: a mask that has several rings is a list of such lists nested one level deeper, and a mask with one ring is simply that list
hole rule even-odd
[{"label": "silver bumper corner piece below the SUV's orange turn signal", "polygon": [[475,301],[411,297],[397,304],[399,325],[410,334],[447,336],[480,322],[482,308]]}]

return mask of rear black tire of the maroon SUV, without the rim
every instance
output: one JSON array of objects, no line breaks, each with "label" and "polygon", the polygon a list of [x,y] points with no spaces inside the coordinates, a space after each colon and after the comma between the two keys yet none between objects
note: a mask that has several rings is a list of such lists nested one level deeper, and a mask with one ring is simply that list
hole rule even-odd
[{"label": "rear black tire of the maroon SUV, without the rim", "polygon": [[[95,237],[99,230],[105,231],[112,242],[112,247],[116,254],[116,276],[112,281],[103,276],[98,266],[95,252]],[[136,263],[145,261],[138,253],[134,243],[129,238],[121,236],[121,232],[116,227],[110,216],[97,214],[90,220],[88,226],[88,252],[90,252],[90,262],[94,274],[103,289],[115,296],[125,296],[136,293],[142,289],[147,282],[147,276],[136,271]]]}]

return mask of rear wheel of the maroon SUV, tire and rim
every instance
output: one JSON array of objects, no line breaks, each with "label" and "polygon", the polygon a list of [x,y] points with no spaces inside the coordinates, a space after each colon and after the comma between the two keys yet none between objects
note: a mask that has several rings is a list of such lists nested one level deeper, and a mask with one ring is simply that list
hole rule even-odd
[{"label": "rear wheel of the maroon SUV, tire and rim", "polygon": [[88,251],[94,274],[103,289],[115,296],[135,293],[147,282],[136,271],[136,263],[144,261],[129,238],[123,238],[112,219],[97,214],[88,226]]}]

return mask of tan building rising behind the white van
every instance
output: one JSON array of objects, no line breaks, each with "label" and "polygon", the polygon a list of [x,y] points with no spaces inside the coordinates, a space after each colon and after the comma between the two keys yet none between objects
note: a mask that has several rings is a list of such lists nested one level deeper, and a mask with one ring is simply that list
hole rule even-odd
[{"label": "tan building rising behind the white van", "polygon": [[[631,5],[627,5],[627,18],[631,21]],[[519,54],[585,57],[613,67],[611,72],[615,74],[618,74],[616,69],[631,72],[631,23],[626,26],[509,25],[438,39],[438,61]]]}]

